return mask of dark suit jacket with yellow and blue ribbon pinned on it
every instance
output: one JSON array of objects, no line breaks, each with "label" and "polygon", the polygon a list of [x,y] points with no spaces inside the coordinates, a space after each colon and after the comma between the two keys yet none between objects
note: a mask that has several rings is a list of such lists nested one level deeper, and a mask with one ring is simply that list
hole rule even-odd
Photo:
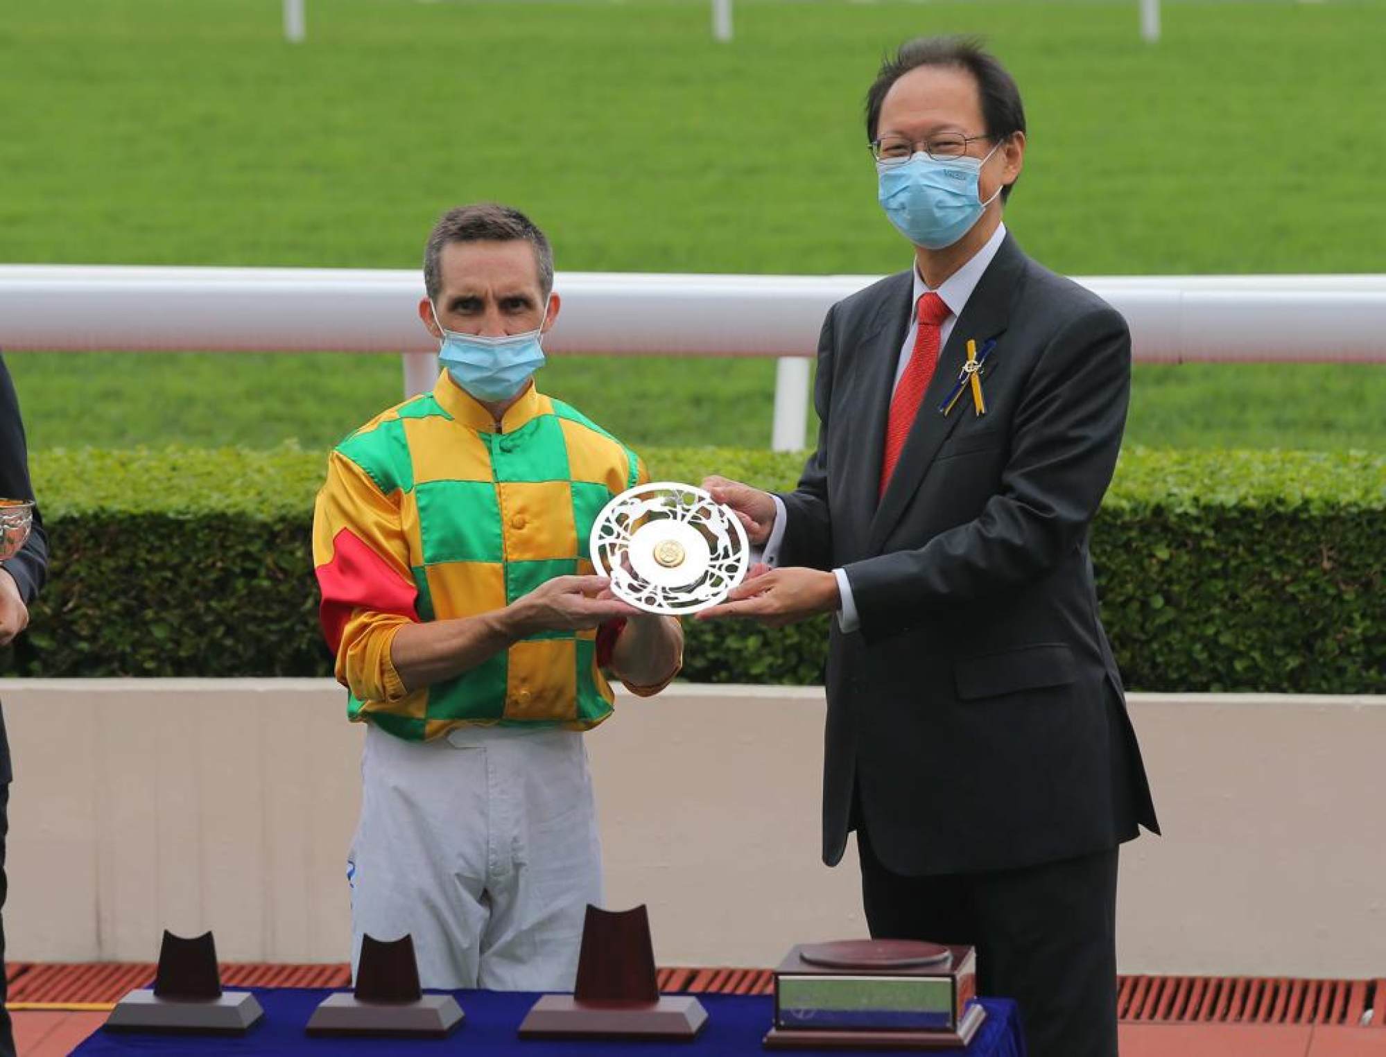
[{"label": "dark suit jacket with yellow and blue ribbon pinned on it", "polygon": [[[818,450],[782,565],[844,568],[861,619],[827,661],[823,860],[859,821],[894,873],[1002,870],[1159,831],[1098,618],[1088,528],[1131,380],[1125,320],[1008,234],[958,319],[877,504],[902,272],[834,305],[818,350]],[[938,405],[966,342],[987,414]]]}]

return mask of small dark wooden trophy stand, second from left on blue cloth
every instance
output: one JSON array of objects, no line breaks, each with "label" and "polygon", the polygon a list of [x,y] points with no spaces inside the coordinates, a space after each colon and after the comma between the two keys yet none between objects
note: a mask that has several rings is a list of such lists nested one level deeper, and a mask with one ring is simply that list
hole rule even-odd
[{"label": "small dark wooden trophy stand, second from left on blue cloth", "polygon": [[388,943],[366,935],[355,992],[323,999],[308,1021],[308,1033],[442,1039],[462,1021],[462,1007],[452,995],[424,995],[420,989],[412,935]]}]

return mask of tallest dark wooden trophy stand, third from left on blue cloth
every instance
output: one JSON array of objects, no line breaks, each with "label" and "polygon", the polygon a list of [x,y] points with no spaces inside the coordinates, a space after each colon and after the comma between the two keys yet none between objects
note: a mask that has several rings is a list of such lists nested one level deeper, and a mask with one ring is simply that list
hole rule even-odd
[{"label": "tallest dark wooden trophy stand, third from left on blue cloth", "polygon": [[520,1025],[521,1039],[692,1040],[707,1010],[692,995],[660,995],[650,916],[588,906],[572,995],[545,995]]}]

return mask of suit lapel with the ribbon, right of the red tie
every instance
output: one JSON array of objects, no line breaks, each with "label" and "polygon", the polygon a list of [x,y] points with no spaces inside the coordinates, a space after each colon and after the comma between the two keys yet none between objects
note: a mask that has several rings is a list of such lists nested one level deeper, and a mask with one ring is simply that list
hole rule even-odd
[{"label": "suit lapel with the ribbon, right of the red tie", "polygon": [[[1010,303],[1023,267],[1024,255],[1015,238],[1006,234],[997,256],[992,258],[977,287],[972,291],[972,296],[967,298],[962,316],[958,317],[948,335],[948,344],[938,355],[938,367],[934,370],[934,377],[924,391],[924,399],[919,405],[919,414],[905,438],[900,463],[895,465],[886,495],[881,496],[876,515],[872,518],[866,540],[869,553],[880,553],[890,531],[895,528],[905,507],[909,506],[911,497],[919,490],[938,449],[958,427],[958,423],[966,417],[963,411],[970,413],[972,402],[966,396],[947,417],[938,411],[938,405],[958,381],[962,364],[967,359],[967,339],[976,339],[977,346],[981,348],[984,341],[995,338],[1006,330],[1010,321]],[[998,349],[992,353],[992,356],[998,355],[1003,355],[1003,350]],[[879,432],[884,435],[884,431],[886,420],[881,417]],[[877,452],[883,443],[884,441],[877,443]],[[880,486],[879,461],[877,457],[877,475],[872,478],[876,488]]]}]

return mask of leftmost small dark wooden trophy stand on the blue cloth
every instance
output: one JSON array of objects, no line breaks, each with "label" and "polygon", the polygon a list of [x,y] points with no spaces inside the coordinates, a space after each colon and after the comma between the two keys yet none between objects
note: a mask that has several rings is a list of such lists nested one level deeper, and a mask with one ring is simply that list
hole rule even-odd
[{"label": "leftmost small dark wooden trophy stand on the blue cloth", "polygon": [[222,991],[211,932],[187,939],[164,931],[151,989],[132,991],[105,1029],[165,1035],[244,1035],[265,1010],[248,991]]}]

